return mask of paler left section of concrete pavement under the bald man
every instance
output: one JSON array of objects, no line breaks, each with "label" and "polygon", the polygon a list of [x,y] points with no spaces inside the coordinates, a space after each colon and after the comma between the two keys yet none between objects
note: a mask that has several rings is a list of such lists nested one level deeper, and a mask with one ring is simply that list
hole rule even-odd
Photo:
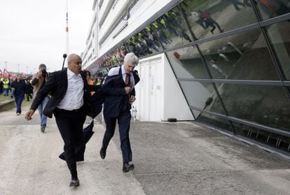
[{"label": "paler left section of concrete pavement under the bald man", "polygon": [[0,194],[144,194],[133,173],[123,173],[118,144],[111,143],[105,161],[99,157],[102,124],[95,124],[85,161],[77,164],[77,188],[69,187],[67,164],[58,158],[63,143],[54,120],[46,130],[37,112],[30,122],[14,110],[0,113]]}]

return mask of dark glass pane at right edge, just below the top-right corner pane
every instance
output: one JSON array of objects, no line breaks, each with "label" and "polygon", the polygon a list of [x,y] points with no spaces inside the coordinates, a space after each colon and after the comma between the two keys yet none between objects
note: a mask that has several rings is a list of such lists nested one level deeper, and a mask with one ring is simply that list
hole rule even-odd
[{"label": "dark glass pane at right edge, just below the top-right corner pane", "polygon": [[290,80],[290,22],[272,24],[267,27],[267,31],[284,75],[287,80]]}]

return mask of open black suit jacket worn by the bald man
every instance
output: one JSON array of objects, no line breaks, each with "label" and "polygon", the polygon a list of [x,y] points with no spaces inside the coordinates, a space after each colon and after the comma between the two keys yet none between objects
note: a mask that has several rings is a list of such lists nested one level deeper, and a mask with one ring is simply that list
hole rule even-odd
[{"label": "open black suit jacket worn by the bald man", "polygon": [[[88,85],[88,82],[85,80],[85,74],[81,72],[81,76],[83,78],[84,83],[84,93],[83,93],[83,101],[86,113],[92,111],[92,107],[90,103],[92,102],[90,92],[99,91],[100,87],[98,85]],[[57,105],[62,101],[64,95],[67,92],[67,68],[62,71],[56,71],[50,73],[48,80],[45,85],[39,90],[39,93],[34,98],[32,102],[32,106],[30,109],[36,110],[39,104],[43,101],[43,99],[50,93],[51,98],[46,104],[46,108],[43,110],[43,114],[47,117],[53,117],[53,111],[57,107]]]}]

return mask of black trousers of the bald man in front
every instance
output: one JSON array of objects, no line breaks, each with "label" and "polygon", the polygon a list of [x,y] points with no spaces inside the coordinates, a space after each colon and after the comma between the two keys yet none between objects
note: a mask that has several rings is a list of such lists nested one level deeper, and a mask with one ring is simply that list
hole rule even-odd
[{"label": "black trousers of the bald man in front", "polygon": [[71,178],[78,178],[76,171],[76,146],[83,142],[83,123],[85,112],[83,108],[78,110],[62,110],[55,108],[55,121],[64,140],[64,155],[67,166],[71,172]]}]

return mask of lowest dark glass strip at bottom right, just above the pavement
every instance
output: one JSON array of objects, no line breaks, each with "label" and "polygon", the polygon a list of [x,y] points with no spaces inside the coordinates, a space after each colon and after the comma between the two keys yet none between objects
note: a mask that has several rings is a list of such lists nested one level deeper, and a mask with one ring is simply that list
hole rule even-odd
[{"label": "lowest dark glass strip at bottom right, just above the pavement", "polygon": [[290,152],[290,138],[279,135],[277,133],[271,133],[269,131],[263,131],[261,129],[249,127],[245,124],[240,124],[237,122],[232,123],[235,127],[235,132],[237,133],[237,135],[243,136],[251,140],[255,140],[259,143],[276,147],[279,150],[284,150],[285,152]]}]

